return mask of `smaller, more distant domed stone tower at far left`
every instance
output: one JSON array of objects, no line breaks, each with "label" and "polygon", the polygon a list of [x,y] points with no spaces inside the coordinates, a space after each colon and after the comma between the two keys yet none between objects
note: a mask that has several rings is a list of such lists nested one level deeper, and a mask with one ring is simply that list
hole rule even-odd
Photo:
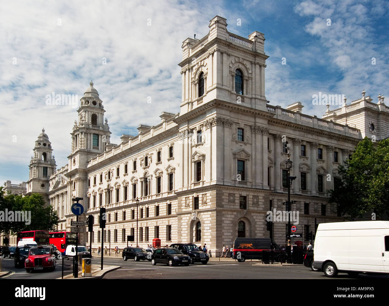
[{"label": "smaller, more distant domed stone tower at far left", "polygon": [[47,193],[49,192],[49,177],[55,172],[56,163],[49,137],[42,129],[37,141],[35,141],[34,155],[30,161],[30,175],[27,181],[27,193],[40,193],[44,196],[46,204],[49,203]]}]

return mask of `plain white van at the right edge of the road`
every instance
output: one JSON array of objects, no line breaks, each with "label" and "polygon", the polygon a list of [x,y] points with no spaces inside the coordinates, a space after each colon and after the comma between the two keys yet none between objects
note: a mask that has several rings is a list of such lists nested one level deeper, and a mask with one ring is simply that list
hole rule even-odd
[{"label": "plain white van at the right edge of the road", "polygon": [[389,221],[319,224],[313,266],[328,277],[338,272],[389,273]]}]

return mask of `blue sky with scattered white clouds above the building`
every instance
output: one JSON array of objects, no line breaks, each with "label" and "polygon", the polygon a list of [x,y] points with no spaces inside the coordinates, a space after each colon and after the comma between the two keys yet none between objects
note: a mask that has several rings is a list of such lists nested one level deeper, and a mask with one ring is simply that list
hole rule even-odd
[{"label": "blue sky with scattered white clouds above the building", "polygon": [[57,169],[68,162],[77,108],[47,105],[53,92],[80,99],[93,80],[116,144],[139,124],[158,124],[162,111],[178,113],[182,42],[207,35],[216,15],[231,33],[265,34],[270,104],[301,101],[321,117],[314,94],[344,94],[349,104],[362,89],[377,103],[389,94],[388,11],[382,0],[2,2],[0,183],[28,180],[42,128]]}]

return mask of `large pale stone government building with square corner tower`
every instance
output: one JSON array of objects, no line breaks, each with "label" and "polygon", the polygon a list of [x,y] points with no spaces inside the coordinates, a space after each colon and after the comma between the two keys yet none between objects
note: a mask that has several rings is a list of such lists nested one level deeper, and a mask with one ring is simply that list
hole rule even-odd
[{"label": "large pale stone government building with square corner tower", "polygon": [[[302,234],[292,240],[307,244],[317,224],[343,220],[326,190],[358,141],[388,136],[389,108],[381,95],[375,104],[365,92],[338,110],[328,108],[323,118],[304,115],[300,102],[286,109],[267,104],[264,43],[263,33],[240,37],[228,32],[226,19],[214,17],[205,37],[182,43],[180,113],[163,112],[158,125],[139,125],[138,135],[123,134],[119,145],[110,143],[103,101],[91,82],[77,110],[68,164],[43,177],[61,219],[58,230],[70,230],[71,198],[78,196],[84,198],[80,220],[94,217],[94,248],[101,246],[101,207],[107,247],[123,248],[127,235],[138,236],[143,247],[160,238],[163,245],[207,243],[212,250],[237,236],[269,237],[266,212],[285,210],[287,148],[297,177],[292,210]],[[35,147],[30,169],[40,173],[41,147]],[[43,188],[40,178],[30,174],[29,192]],[[287,222],[273,228],[275,242],[285,244]],[[81,240],[89,244],[89,234]]]}]

